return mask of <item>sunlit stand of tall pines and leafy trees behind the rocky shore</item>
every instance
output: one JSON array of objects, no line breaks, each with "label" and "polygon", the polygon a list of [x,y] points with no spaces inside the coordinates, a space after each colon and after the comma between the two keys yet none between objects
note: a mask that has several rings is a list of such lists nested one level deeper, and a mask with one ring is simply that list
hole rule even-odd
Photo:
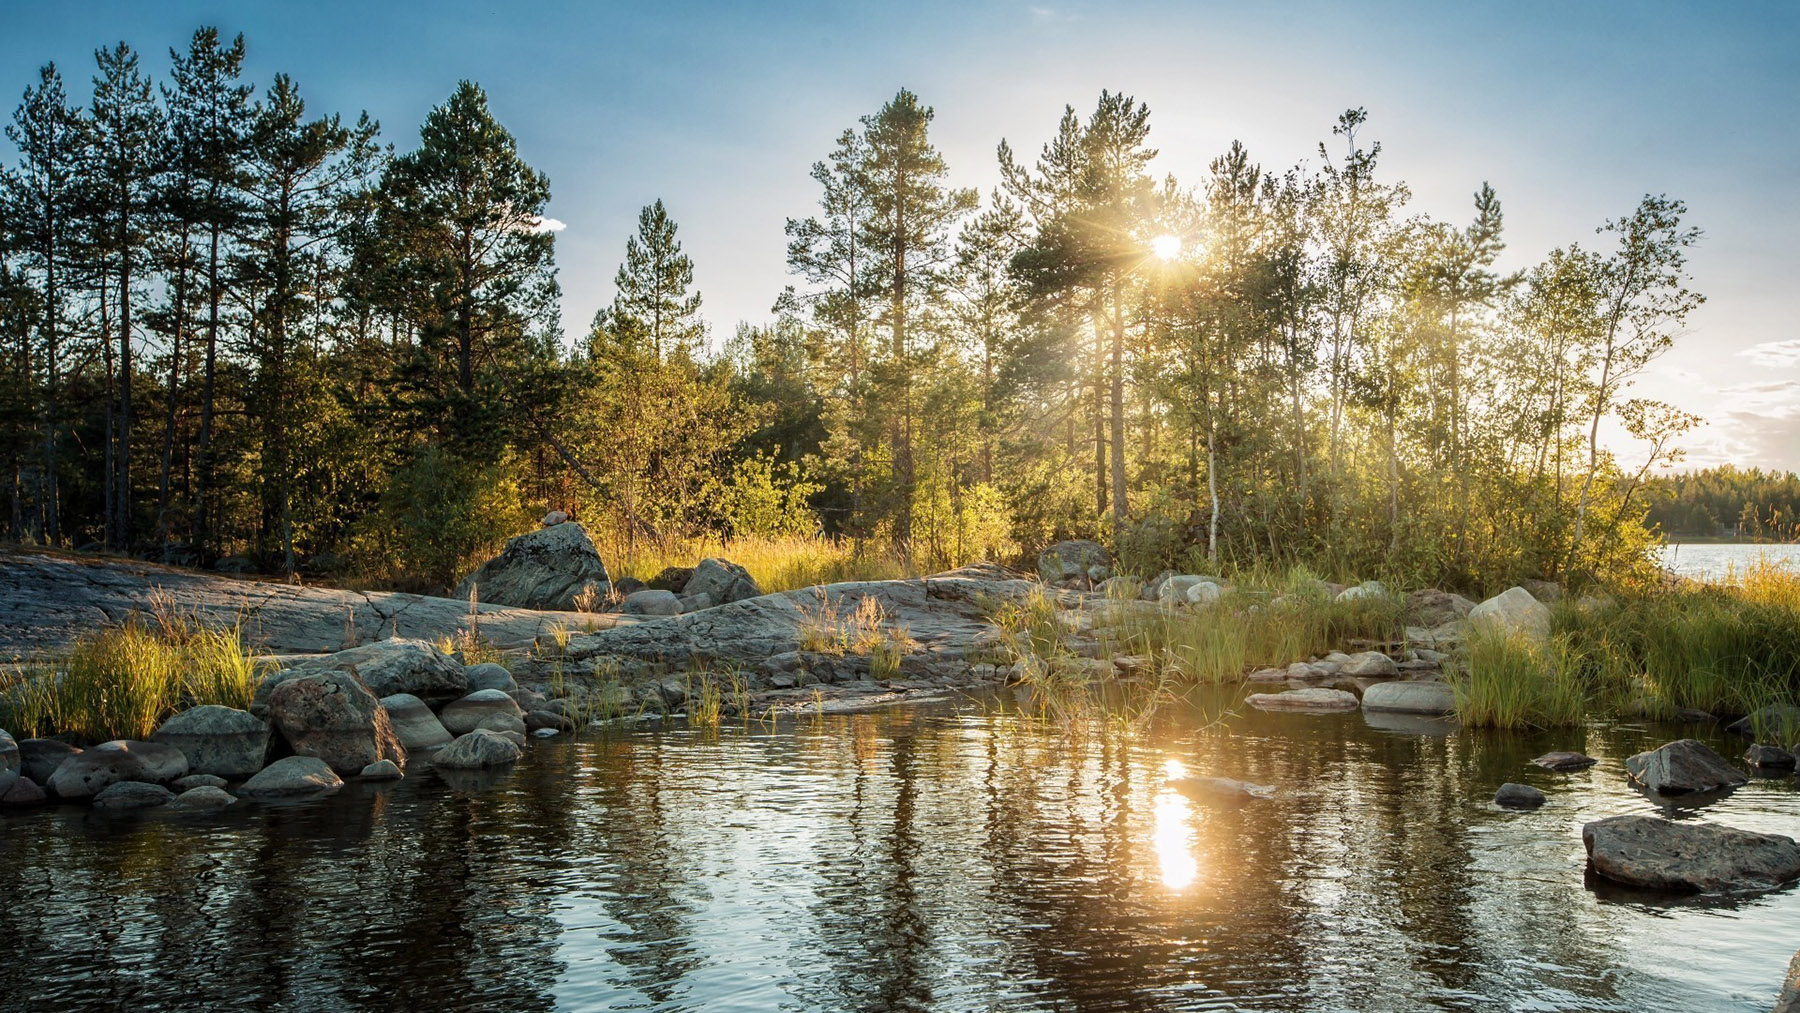
[{"label": "sunlit stand of tall pines and leafy trees behind the rocky shore", "polygon": [[248,81],[245,45],[200,29],[166,79],[99,49],[90,88],[45,65],[5,128],[13,542],[443,590],[562,509],[625,569],[763,540],[927,572],[1096,536],[1145,574],[1499,588],[1643,579],[1658,524],[1739,520],[1656,484],[1699,419],[1633,396],[1703,302],[1665,194],[1503,272],[1499,194],[1417,212],[1361,108],[1316,151],[1233,142],[1177,178],[1148,104],[1102,92],[995,139],[977,193],[898,90],[794,167],[817,205],[769,238],[792,284],[767,320],[711,331],[677,221],[634,194],[617,293],[569,335],[551,180],[481,86],[383,133]]}]

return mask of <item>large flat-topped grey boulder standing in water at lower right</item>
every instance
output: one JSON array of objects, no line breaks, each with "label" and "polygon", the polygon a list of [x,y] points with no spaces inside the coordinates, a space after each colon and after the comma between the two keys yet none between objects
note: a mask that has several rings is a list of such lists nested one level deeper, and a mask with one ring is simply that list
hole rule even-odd
[{"label": "large flat-topped grey boulder standing in water at lower right", "polygon": [[1652,891],[1764,891],[1800,876],[1800,844],[1777,833],[1624,815],[1586,824],[1593,871]]}]

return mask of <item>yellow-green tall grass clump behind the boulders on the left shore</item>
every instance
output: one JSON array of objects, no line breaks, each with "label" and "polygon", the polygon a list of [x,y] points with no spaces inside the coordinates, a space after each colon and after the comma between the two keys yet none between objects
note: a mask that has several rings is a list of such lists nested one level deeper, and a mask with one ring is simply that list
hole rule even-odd
[{"label": "yellow-green tall grass clump behind the boulders on the left shore", "polygon": [[0,727],[14,736],[140,740],[189,707],[248,707],[256,682],[241,626],[205,626],[153,599],[149,615],[133,614],[0,677]]}]

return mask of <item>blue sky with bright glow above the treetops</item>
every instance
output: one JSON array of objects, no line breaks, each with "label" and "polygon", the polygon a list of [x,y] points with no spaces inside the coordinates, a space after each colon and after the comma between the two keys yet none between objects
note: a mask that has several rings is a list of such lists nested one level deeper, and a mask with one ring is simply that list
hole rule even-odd
[{"label": "blue sky with bright glow above the treetops", "polygon": [[571,333],[610,300],[655,198],[715,335],[765,318],[788,281],[781,221],[815,198],[806,167],[898,86],[936,106],[952,176],[983,189],[1001,137],[1035,151],[1102,88],[1150,104],[1156,171],[1190,182],[1233,139],[1273,167],[1309,158],[1359,104],[1413,211],[1460,221],[1494,184],[1508,266],[1591,243],[1647,191],[1687,200],[1708,304],[1640,390],[1712,419],[1696,462],[1800,468],[1800,4],[0,0],[0,94],[56,59],[83,95],[92,50],[119,40],[160,74],[212,23],[245,32],[252,79],[367,108],[401,149],[479,81],[551,176]]}]

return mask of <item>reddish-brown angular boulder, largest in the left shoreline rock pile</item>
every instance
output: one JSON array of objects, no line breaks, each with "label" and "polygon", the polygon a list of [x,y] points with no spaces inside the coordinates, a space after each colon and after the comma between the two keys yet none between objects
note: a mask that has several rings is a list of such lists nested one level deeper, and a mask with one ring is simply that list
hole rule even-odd
[{"label": "reddish-brown angular boulder, largest in the left shoreline rock pile", "polygon": [[394,723],[355,675],[319,671],[275,687],[268,713],[299,756],[315,756],[338,774],[356,774],[376,759],[407,761]]}]

